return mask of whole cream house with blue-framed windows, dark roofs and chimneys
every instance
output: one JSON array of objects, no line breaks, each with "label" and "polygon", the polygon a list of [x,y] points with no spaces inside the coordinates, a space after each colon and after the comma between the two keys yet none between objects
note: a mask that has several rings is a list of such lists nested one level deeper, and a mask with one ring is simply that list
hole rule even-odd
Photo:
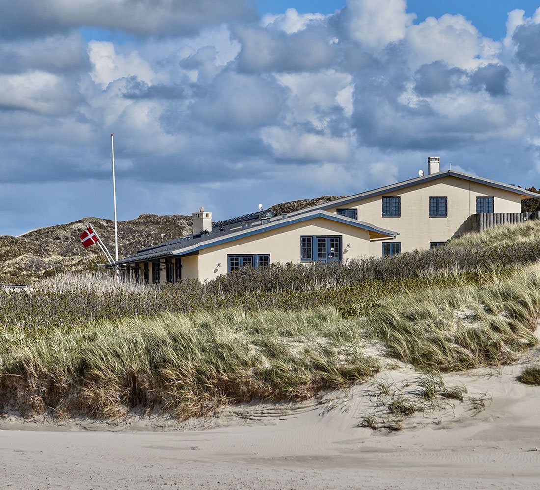
[{"label": "whole cream house with blue-framed windows, dark roofs and chimneys", "polygon": [[261,211],[212,223],[212,214],[201,208],[193,213],[192,234],[118,264],[135,280],[163,283],[211,280],[240,267],[277,262],[392,256],[441,246],[467,231],[478,213],[501,217],[500,222],[521,216],[523,199],[540,198],[514,185],[440,172],[438,164],[438,157],[430,157],[426,176],[288,215]]}]

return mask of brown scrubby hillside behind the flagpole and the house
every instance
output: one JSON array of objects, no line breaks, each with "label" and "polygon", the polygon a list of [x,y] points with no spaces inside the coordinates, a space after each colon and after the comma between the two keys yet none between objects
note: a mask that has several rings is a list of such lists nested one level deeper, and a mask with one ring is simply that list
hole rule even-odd
[{"label": "brown scrubby hillside behind the flagpole and the house", "polygon": [[[272,206],[275,213],[292,212],[338,197],[322,196]],[[29,231],[18,237],[0,235],[0,283],[29,284],[58,272],[95,271],[106,262],[97,245],[84,249],[79,235],[91,223],[114,256],[114,222],[82,218],[75,222]],[[143,214],[118,222],[120,257],[191,232],[193,220],[185,215]]]}]

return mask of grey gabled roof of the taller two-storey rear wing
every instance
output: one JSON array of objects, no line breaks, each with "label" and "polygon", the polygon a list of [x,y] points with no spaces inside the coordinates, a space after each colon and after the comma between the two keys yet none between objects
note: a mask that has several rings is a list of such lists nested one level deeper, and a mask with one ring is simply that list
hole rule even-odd
[{"label": "grey gabled roof of the taller two-storey rear wing", "polygon": [[502,182],[496,182],[489,180],[488,178],[477,177],[476,175],[463,174],[462,172],[456,172],[455,170],[448,170],[446,172],[438,172],[437,174],[425,175],[423,177],[411,178],[408,181],[397,182],[396,184],[386,185],[385,187],[380,187],[378,189],[373,189],[365,192],[360,192],[360,194],[354,194],[352,196],[344,197],[342,199],[337,199],[336,201],[330,201],[328,203],[319,204],[312,206],[311,208],[301,209],[299,211],[294,211],[289,213],[289,215],[300,215],[302,213],[311,212],[317,209],[327,209],[334,208],[336,206],[343,206],[355,201],[361,201],[362,199],[367,199],[369,197],[380,196],[381,194],[388,194],[390,192],[395,192],[413,185],[423,184],[425,182],[439,180],[445,177],[456,177],[461,178],[462,180],[476,182],[478,184],[490,185],[497,189],[503,189],[510,192],[515,192],[522,196],[522,199],[530,198],[540,198],[540,194],[536,192],[531,192],[516,185],[503,184]]}]

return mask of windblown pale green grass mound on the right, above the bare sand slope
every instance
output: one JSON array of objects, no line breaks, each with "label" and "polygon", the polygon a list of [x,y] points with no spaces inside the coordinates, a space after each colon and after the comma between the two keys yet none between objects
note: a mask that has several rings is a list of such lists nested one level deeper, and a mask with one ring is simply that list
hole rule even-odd
[{"label": "windblown pale green grass mound on the right, above the bare sand slope", "polygon": [[540,264],[494,275],[489,286],[435,287],[395,296],[368,315],[368,335],[423,370],[514,361],[535,346]]}]

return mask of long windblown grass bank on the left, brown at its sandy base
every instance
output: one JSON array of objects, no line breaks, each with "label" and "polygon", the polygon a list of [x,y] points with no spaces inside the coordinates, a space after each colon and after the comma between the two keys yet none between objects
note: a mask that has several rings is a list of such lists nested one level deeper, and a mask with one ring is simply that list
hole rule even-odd
[{"label": "long windblown grass bank on the left, brown at its sandy base", "polygon": [[300,400],[374,375],[359,329],[332,308],[164,313],[39,337],[2,334],[0,400],[116,417],[153,408],[180,419],[225,403]]}]

